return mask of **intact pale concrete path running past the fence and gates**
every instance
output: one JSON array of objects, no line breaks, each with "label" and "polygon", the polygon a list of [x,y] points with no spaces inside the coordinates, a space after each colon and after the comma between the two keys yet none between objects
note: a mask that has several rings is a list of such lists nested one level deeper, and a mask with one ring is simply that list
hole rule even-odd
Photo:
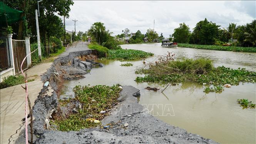
[{"label": "intact pale concrete path running past the fence and gates", "polygon": [[[69,52],[84,51],[87,49],[86,43],[80,42],[67,48],[59,57],[67,56]],[[46,72],[51,64],[52,62],[41,63],[27,70],[28,79],[35,79],[33,82],[28,83],[28,94],[32,106],[43,87],[40,75]],[[21,85],[25,86],[25,84]],[[22,119],[25,118],[25,90],[21,85],[15,85],[0,90],[0,144],[8,144],[10,136],[15,134],[16,130],[23,125]],[[13,138],[12,141],[13,140],[15,140],[15,138]]]}]

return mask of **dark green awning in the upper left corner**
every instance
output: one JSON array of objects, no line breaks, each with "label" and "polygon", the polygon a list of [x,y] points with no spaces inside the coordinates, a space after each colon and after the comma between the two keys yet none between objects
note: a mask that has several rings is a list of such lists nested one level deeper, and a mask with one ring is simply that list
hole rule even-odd
[{"label": "dark green awning in the upper left corner", "polygon": [[12,23],[15,23],[19,21],[20,15],[23,13],[23,11],[15,10],[8,5],[5,5],[5,3],[0,2],[0,25],[1,27],[11,25]]}]

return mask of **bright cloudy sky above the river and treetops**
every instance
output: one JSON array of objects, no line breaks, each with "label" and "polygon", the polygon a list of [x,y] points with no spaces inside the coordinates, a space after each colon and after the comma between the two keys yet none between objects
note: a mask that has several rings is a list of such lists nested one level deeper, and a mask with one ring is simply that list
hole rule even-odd
[{"label": "bright cloudy sky above the river and treetops", "polygon": [[97,21],[116,34],[129,28],[146,33],[153,28],[160,35],[169,37],[179,23],[192,28],[198,21],[212,21],[226,28],[229,23],[244,25],[256,19],[256,1],[76,1],[71,6],[66,29],[87,31]]}]

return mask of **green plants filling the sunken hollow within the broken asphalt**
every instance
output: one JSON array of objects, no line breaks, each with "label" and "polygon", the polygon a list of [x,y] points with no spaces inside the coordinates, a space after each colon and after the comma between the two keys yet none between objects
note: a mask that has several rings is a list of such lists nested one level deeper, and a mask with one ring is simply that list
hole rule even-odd
[{"label": "green plants filling the sunken hollow within the broken asphalt", "polygon": [[70,114],[67,119],[55,119],[54,124],[57,125],[57,129],[60,131],[79,131],[84,128],[100,126],[100,122],[97,120],[108,115],[105,112],[109,111],[117,102],[121,91],[119,86],[119,84],[111,87],[106,85],[75,86],[73,89],[75,98],[62,100],[60,105],[61,103],[67,105],[72,101],[79,101],[82,106],[77,112]]}]

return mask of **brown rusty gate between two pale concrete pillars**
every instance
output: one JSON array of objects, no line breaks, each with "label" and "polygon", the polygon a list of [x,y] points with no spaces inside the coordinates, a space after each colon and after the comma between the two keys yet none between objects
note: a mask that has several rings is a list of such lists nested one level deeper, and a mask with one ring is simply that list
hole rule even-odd
[{"label": "brown rusty gate between two pale concrete pillars", "polygon": [[[20,65],[23,59],[27,56],[26,54],[26,44],[25,40],[12,40],[13,47],[13,59],[15,65],[15,74],[19,74],[21,72]],[[27,69],[27,60],[23,62],[22,70]]]}]

